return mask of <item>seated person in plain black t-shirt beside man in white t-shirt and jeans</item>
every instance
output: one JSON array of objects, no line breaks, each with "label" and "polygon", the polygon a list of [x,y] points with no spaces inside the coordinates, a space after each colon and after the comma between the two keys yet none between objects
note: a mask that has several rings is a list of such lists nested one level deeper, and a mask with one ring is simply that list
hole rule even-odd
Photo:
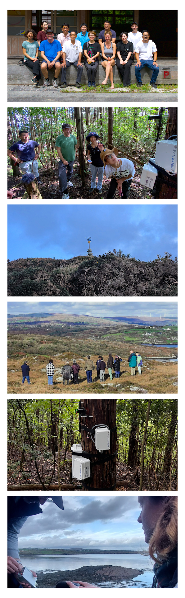
[{"label": "seated person in plain black t-shirt beside man in white t-shirt and jeans", "polygon": [[121,74],[124,87],[131,85],[129,80],[129,69],[132,65],[131,54],[134,46],[131,41],[127,40],[128,33],[122,31],[119,36],[120,41],[117,44],[116,66]]}]

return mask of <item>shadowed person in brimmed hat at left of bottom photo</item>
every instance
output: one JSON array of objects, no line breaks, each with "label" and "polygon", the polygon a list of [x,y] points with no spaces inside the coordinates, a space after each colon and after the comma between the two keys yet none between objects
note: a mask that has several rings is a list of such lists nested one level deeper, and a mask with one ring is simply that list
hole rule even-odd
[{"label": "shadowed person in brimmed hat at left of bottom photo", "polygon": [[[51,498],[58,508],[64,509],[62,496],[23,495],[7,497],[7,581],[8,588],[30,589],[29,584],[20,584],[16,576],[23,565],[18,553],[18,534],[27,518],[42,513],[40,505],[44,505]],[[36,572],[32,571],[36,577]],[[15,575],[14,575],[15,574]]]}]

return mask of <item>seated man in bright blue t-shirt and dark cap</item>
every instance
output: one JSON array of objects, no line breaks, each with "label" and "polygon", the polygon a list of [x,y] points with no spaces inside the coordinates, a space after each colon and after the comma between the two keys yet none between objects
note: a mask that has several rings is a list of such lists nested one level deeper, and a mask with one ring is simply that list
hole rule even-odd
[{"label": "seated man in bright blue t-shirt and dark cap", "polygon": [[54,81],[53,87],[58,87],[57,79],[60,73],[60,56],[61,56],[61,44],[58,39],[54,39],[54,32],[47,31],[46,32],[47,39],[41,41],[40,51],[41,51],[41,58],[42,64],[41,69],[42,73],[45,77],[45,81],[42,87],[47,87],[50,85],[50,81],[48,78],[48,69],[52,69],[55,66],[55,74],[54,74]]}]

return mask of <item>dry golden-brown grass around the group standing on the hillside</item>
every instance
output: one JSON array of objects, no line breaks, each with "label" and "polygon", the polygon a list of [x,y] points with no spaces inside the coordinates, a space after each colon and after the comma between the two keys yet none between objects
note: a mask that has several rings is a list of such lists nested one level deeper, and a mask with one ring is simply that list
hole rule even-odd
[{"label": "dry golden-brown grass around the group standing on the hillside", "polygon": [[[118,343],[119,344],[119,343]],[[117,347],[118,348],[118,347]],[[130,350],[130,349],[129,349]],[[54,373],[53,386],[48,386],[48,379],[46,372],[42,372],[42,368],[46,367],[48,363],[48,356],[37,356],[37,361],[33,359],[33,355],[27,355],[27,362],[30,367],[30,382],[31,385],[27,384],[27,380],[25,380],[24,385],[21,383],[21,365],[24,362],[24,358],[21,357],[19,359],[13,358],[8,359],[8,373],[7,373],[7,392],[8,395],[12,394],[22,394],[22,395],[67,395],[70,393],[75,393],[78,395],[79,393],[86,393],[86,394],[117,394],[120,395],[124,394],[141,394],[143,395],[143,389],[146,390],[146,394],[155,394],[155,395],[169,395],[169,394],[177,394],[178,387],[174,383],[177,383],[177,374],[178,374],[178,365],[177,362],[156,362],[154,360],[144,359],[143,354],[147,352],[147,356],[155,355],[172,355],[176,353],[175,349],[162,349],[161,347],[139,347],[135,350],[140,351],[143,359],[143,368],[142,368],[142,375],[139,376],[138,371],[136,376],[131,376],[131,370],[128,365],[128,355],[129,350],[127,345],[125,344],[124,352],[122,353],[118,351],[119,355],[122,356],[122,363],[120,369],[120,377],[115,379],[115,373],[113,373],[113,380],[110,380],[109,373],[105,370],[105,380],[104,383],[97,382],[96,380],[96,367],[95,370],[92,371],[92,384],[87,384],[87,376],[84,369],[85,366],[85,359],[86,357],[79,357],[77,355],[73,355],[72,352],[65,352],[62,356],[53,357],[54,367],[55,370],[57,368],[61,368],[66,359],[69,359],[70,365],[72,365],[72,359],[75,358],[78,362],[81,370],[79,371],[79,384],[73,385],[71,382],[69,385],[63,385],[62,381],[57,381],[56,379],[61,376],[60,372]],[[113,353],[112,353],[113,355]],[[124,356],[123,356],[124,355]],[[104,354],[104,361],[107,363],[108,354]],[[91,359],[95,365],[97,361],[97,354],[92,355]],[[12,372],[11,370],[15,370]],[[133,386],[137,386],[137,390],[132,390]],[[140,390],[141,389],[141,390]]]}]

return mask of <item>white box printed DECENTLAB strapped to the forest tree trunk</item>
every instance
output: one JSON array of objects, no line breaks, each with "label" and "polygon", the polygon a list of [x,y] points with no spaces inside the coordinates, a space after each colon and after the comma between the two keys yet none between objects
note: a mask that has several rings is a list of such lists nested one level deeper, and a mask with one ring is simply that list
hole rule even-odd
[{"label": "white box printed DECENTLAB strapped to the forest tree trunk", "polygon": [[157,141],[155,163],[167,172],[174,174],[177,172],[177,141],[175,139]]}]

